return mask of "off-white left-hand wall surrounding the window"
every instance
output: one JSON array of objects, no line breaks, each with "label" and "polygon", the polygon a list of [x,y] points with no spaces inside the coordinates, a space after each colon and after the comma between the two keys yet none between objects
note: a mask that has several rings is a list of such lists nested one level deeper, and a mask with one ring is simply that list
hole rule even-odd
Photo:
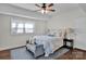
[{"label": "off-white left-hand wall surrounding the window", "polygon": [[[12,16],[0,15],[0,50],[25,46],[26,40],[30,37],[30,35],[11,35],[11,29],[10,29],[11,17]],[[34,22],[36,35],[45,34],[46,22],[28,20],[28,18],[21,18],[21,20]]]}]

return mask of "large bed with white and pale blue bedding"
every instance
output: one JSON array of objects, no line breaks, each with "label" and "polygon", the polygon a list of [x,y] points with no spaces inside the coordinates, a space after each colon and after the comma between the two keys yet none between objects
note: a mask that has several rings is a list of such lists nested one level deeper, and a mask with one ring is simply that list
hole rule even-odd
[{"label": "large bed with white and pale blue bedding", "polygon": [[26,44],[26,48],[35,54],[38,48],[37,46],[44,46],[45,56],[49,56],[49,54],[53,53],[56,50],[63,46],[63,38],[53,35],[34,36],[29,38],[29,43]]}]

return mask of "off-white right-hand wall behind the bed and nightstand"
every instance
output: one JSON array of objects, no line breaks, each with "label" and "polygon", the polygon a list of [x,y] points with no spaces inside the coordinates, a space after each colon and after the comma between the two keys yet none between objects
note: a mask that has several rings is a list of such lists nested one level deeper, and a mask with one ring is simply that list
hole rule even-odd
[{"label": "off-white right-hand wall behind the bed and nightstand", "polygon": [[[82,20],[81,17],[83,17],[84,20]],[[78,22],[76,23],[78,18],[81,18],[79,22],[84,21],[84,23],[82,24],[79,23],[78,25]],[[57,15],[56,17],[51,18],[50,21],[48,21],[47,28],[49,29],[59,29],[59,28],[64,28],[64,27],[76,28],[76,25],[78,28],[79,27],[83,28],[83,26],[86,27],[85,21],[86,21],[86,14],[82,10],[77,9],[77,10],[74,10],[74,11],[71,11],[64,14]],[[82,28],[79,30],[82,30]],[[85,31],[85,29],[86,28],[84,28],[83,31]],[[74,47],[86,50],[86,41],[85,41],[86,36],[82,36],[82,37],[84,37],[84,39],[81,39],[79,43],[75,41]]]}]

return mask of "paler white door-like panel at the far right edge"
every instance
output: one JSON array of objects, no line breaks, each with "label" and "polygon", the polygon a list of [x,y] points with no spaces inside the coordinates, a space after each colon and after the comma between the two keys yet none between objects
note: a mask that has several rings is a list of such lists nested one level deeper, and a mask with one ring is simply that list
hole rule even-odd
[{"label": "paler white door-like panel at the far right edge", "polygon": [[76,40],[75,47],[86,50],[86,17],[75,20]]}]

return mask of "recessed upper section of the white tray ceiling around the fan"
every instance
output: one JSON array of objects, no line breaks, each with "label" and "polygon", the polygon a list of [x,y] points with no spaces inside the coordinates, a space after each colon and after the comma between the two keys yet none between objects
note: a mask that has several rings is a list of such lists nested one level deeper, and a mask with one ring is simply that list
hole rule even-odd
[{"label": "recessed upper section of the white tray ceiling around the fan", "polygon": [[[35,5],[35,3],[11,3],[11,5],[19,7],[19,8],[22,8],[22,9],[26,9],[26,10],[33,11],[33,12],[36,12],[36,10],[39,10],[39,8],[37,8]],[[41,4],[39,4],[39,5],[41,5]],[[69,12],[69,11],[76,10],[77,8],[78,8],[78,4],[75,4],[75,3],[54,3],[52,9],[54,9],[56,12],[50,12],[46,15],[47,16],[54,16],[56,14],[65,13],[65,12]],[[40,13],[40,12],[38,12],[38,13]]]}]

